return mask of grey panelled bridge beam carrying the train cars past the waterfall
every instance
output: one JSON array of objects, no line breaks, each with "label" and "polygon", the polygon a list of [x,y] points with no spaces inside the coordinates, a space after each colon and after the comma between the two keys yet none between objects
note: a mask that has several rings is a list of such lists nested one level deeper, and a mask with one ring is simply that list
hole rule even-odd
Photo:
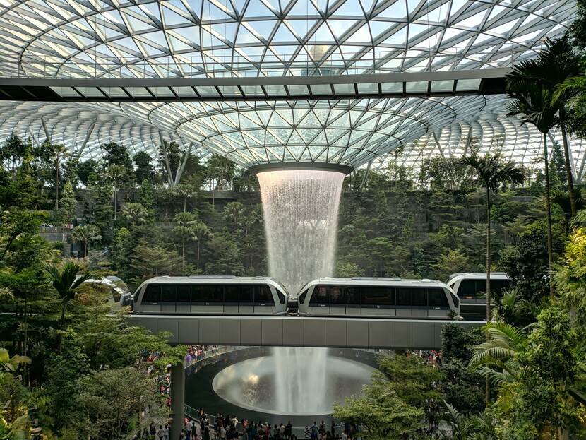
[{"label": "grey panelled bridge beam carrying the train cars past the waterfall", "polygon": [[[330,316],[128,315],[133,326],[170,332],[172,344],[352,347],[430,350],[441,347],[450,320]],[[484,321],[454,321],[465,328]]]}]

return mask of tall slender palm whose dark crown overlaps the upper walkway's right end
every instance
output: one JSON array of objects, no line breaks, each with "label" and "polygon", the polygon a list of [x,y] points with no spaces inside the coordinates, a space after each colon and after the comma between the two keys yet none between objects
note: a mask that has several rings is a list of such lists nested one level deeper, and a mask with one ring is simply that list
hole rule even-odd
[{"label": "tall slender palm whose dark crown overlaps the upper walkway's right end", "polygon": [[[506,76],[507,95],[511,98],[508,116],[520,116],[521,124],[533,124],[543,135],[545,165],[545,202],[547,215],[547,259],[549,270],[554,264],[553,238],[551,235],[551,194],[549,188],[549,155],[547,150],[547,133],[556,124],[559,105],[554,103],[554,90],[536,81],[532,72],[541,71],[542,66],[536,59],[521,61]],[[549,281],[549,295],[554,297],[554,283]]]}]

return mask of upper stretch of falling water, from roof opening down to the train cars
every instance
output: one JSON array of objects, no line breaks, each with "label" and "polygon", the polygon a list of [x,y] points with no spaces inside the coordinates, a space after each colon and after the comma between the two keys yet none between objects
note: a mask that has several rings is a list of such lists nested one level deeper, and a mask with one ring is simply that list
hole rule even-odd
[{"label": "upper stretch of falling water, from roof opening down to the train cars", "polygon": [[268,271],[289,294],[334,272],[337,210],[344,174],[321,170],[268,171],[261,183]]}]

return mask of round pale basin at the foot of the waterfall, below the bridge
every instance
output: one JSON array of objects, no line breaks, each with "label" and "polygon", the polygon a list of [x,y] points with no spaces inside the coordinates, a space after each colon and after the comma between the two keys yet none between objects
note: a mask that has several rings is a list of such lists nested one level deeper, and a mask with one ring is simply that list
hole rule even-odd
[{"label": "round pale basin at the foot of the waterfall, below the bridge", "polygon": [[328,415],[361,392],[373,367],[328,355],[327,348],[273,347],[217,373],[212,388],[232,405],[273,415]]}]

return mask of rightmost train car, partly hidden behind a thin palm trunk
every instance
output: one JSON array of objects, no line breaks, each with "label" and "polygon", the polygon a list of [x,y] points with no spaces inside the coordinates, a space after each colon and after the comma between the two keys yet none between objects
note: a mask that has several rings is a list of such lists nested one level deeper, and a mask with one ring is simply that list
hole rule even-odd
[{"label": "rightmost train car, partly hidden behind a thin palm trunk", "polygon": [[[460,298],[460,314],[465,319],[486,319],[486,273],[453,273],[448,286]],[[510,286],[504,272],[491,272],[491,290],[501,295]]]}]

